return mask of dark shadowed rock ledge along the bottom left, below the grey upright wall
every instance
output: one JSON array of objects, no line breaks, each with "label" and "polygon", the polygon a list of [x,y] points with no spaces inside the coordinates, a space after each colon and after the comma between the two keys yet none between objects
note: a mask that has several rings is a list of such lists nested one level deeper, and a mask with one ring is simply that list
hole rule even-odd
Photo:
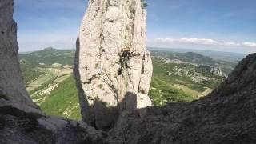
[{"label": "dark shadowed rock ledge along the bottom left, below the grey upright wall", "polygon": [[107,134],[84,122],[27,113],[12,106],[0,107],[0,143],[78,144],[106,143]]}]

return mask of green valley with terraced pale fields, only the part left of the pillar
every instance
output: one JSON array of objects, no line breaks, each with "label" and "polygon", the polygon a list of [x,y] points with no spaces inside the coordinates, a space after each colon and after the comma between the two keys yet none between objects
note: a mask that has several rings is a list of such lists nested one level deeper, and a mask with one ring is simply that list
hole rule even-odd
[{"label": "green valley with terraced pale fields, only the part left of the pillar", "polygon": [[73,78],[74,50],[46,48],[20,54],[26,90],[48,115],[81,119]]}]

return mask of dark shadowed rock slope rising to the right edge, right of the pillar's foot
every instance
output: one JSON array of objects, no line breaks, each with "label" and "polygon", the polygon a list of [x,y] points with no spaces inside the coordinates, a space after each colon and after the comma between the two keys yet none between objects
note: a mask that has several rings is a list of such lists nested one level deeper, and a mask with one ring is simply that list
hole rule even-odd
[{"label": "dark shadowed rock slope rising to the right edge, right of the pillar's foot", "polygon": [[242,60],[218,89],[191,103],[122,114],[112,130],[124,143],[256,143],[256,54]]}]

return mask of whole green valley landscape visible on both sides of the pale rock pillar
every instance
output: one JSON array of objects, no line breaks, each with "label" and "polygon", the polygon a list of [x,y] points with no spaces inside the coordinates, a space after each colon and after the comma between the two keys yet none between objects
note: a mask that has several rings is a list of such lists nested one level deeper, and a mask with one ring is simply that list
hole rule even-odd
[{"label": "whole green valley landscape visible on both sides of the pale rock pillar", "polygon": [[[193,52],[150,52],[154,72],[149,95],[155,106],[191,102],[209,94],[236,65]],[[26,89],[48,115],[81,119],[74,54],[74,50],[46,48],[19,56]]]}]

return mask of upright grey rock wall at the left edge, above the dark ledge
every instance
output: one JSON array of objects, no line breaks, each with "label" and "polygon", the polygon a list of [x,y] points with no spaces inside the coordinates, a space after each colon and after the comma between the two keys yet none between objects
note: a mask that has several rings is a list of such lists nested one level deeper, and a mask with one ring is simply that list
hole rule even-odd
[{"label": "upright grey rock wall at the left edge, above the dark ledge", "polygon": [[0,1],[0,106],[12,105],[40,113],[22,82],[18,63],[17,24],[13,20],[14,2]]}]

